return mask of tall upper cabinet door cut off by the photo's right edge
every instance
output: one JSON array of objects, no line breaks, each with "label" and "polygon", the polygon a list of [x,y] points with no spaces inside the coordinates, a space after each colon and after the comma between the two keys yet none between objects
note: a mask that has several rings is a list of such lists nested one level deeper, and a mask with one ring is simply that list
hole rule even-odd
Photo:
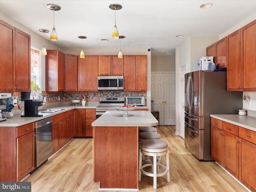
[{"label": "tall upper cabinet door cut off by the photo's right edge", "polygon": [[256,20],[241,29],[243,91],[256,91]]}]

